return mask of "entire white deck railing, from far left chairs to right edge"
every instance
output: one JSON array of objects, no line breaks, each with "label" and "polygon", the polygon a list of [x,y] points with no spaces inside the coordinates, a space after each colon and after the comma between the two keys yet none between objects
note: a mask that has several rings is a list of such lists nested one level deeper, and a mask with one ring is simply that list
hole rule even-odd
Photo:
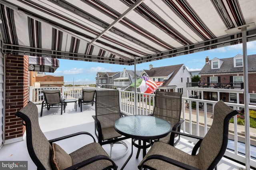
[{"label": "entire white deck railing, from far left chairs to right edge", "polygon": [[[104,89],[104,88],[91,88],[91,87],[62,87],[62,95],[66,96],[66,98],[76,98],[81,95],[82,88],[89,88],[89,89],[96,89],[96,90],[111,90],[111,89]],[[30,100],[35,103],[42,103],[43,96],[38,98],[34,95],[36,92],[39,94],[42,92],[44,88],[30,88]],[[154,94],[144,94],[144,93],[136,93],[134,96],[134,92],[119,90],[120,96],[120,109],[124,113],[128,115],[148,115],[153,113],[154,109]],[[137,103],[135,103],[134,99],[137,98]],[[37,101],[34,101],[37,99]],[[192,102],[196,103],[196,107],[192,108]],[[198,135],[204,137],[212,124],[212,116],[214,111],[207,110],[207,105],[214,105],[216,104],[215,101],[210,100],[199,100],[194,98],[182,98],[182,114],[181,119],[184,119],[185,122],[182,124],[182,130],[186,133]],[[240,110],[244,108],[243,104],[236,104],[236,103],[226,103],[228,106]],[[194,104],[193,104],[194,106]],[[205,106],[205,107],[204,107]],[[249,105],[250,109],[256,109],[256,106]],[[245,163],[245,156],[241,153],[240,145],[244,141],[244,131],[245,127],[243,125],[237,124],[237,117],[234,116],[234,123],[230,123],[229,127],[229,137],[230,145],[228,145],[228,149],[225,152],[225,155],[234,159],[238,160],[239,162]],[[250,128],[250,135],[252,136],[250,140],[255,139],[256,130],[254,128]],[[196,143],[196,141],[192,141]],[[240,146],[240,147],[238,147]],[[245,150],[245,148],[242,148]],[[244,152],[244,151],[242,151]],[[251,166],[256,167],[256,156],[252,153],[251,156]]]}]

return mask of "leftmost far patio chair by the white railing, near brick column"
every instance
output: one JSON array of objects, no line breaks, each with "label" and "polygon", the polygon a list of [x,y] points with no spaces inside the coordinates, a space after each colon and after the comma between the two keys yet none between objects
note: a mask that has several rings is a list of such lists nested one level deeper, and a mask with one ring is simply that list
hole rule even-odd
[{"label": "leftmost far patio chair by the white railing, near brick column", "polygon": [[59,106],[61,106],[60,114],[62,115],[64,102],[60,95],[60,90],[55,90],[55,89],[44,90],[43,93],[44,93],[44,101],[42,102],[40,117],[42,117],[43,108],[47,108],[47,110],[50,110],[50,107],[59,107]]}]

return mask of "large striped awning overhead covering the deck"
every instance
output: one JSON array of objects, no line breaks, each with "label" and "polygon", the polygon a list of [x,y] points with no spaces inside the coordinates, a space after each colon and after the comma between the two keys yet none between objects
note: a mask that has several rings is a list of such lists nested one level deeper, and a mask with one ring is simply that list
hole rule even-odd
[{"label": "large striped awning overhead covering the deck", "polygon": [[[256,0],[2,0],[3,50],[134,64],[242,43]],[[256,40],[256,30],[247,32]]]}]

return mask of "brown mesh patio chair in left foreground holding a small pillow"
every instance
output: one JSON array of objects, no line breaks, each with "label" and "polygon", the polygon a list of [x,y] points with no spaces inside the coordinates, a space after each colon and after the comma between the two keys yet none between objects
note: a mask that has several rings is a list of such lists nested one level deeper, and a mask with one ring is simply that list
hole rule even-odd
[{"label": "brown mesh patio chair in left foreground holding a small pillow", "polygon": [[77,135],[89,135],[94,140],[94,143],[90,143],[70,153],[72,166],[66,168],[66,170],[75,170],[78,168],[81,168],[81,170],[109,170],[113,168],[116,170],[116,164],[111,160],[105,150],[98,143],[95,143],[95,139],[90,133],[78,132],[48,141],[39,127],[38,109],[34,103],[28,102],[28,104],[20,111],[16,112],[15,115],[21,117],[23,119],[22,123],[26,126],[28,153],[38,170],[52,169],[52,143]]}]

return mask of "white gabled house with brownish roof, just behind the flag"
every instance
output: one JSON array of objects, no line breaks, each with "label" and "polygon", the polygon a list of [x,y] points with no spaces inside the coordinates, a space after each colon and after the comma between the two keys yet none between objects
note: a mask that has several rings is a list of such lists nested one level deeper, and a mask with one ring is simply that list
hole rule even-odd
[{"label": "white gabled house with brownish roof, just behind the flag", "polygon": [[186,93],[186,83],[191,82],[191,75],[184,64],[162,66],[153,68],[149,65],[149,70],[143,70],[140,77],[147,76],[156,82],[164,82],[158,89],[166,92]]}]

